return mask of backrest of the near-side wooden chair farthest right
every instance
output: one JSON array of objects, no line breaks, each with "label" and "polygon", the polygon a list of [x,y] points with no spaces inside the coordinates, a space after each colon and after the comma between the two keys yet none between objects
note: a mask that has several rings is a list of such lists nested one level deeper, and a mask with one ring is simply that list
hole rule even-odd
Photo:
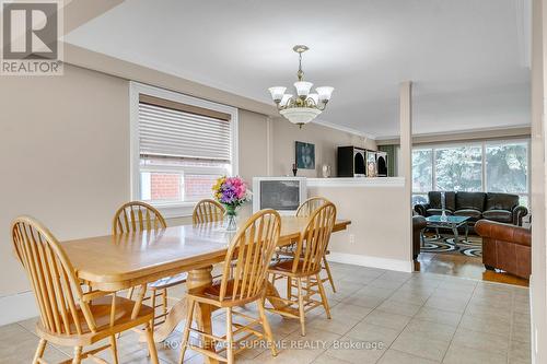
[{"label": "backrest of the near-side wooden chair farthest right", "polygon": [[330,233],[336,222],[336,207],[327,202],[310,216],[310,221],[300,235],[292,265],[292,272],[314,273],[321,270],[321,262],[327,250]]}]

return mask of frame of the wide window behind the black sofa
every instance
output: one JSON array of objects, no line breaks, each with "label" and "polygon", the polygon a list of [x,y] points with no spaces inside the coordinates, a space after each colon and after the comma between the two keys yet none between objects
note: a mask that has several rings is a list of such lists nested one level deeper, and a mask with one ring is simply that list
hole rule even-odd
[{"label": "frame of the wide window behind the black sofa", "polygon": [[[473,145],[480,145],[481,148],[481,191],[482,192],[488,192],[487,188],[487,162],[486,162],[486,151],[487,151],[487,145],[488,144],[513,144],[513,143],[525,143],[527,146],[527,176],[526,176],[526,192],[508,192],[508,193],[513,193],[517,195],[519,197],[526,197],[528,201],[528,210],[529,210],[529,196],[531,196],[531,139],[529,138],[503,138],[503,139],[487,139],[487,140],[474,140],[474,141],[468,141],[468,142],[446,142],[446,143],[432,143],[432,144],[418,144],[415,148],[412,148],[412,152],[415,150],[431,150],[432,151],[432,191],[440,191],[437,185],[437,150],[438,149],[446,149],[446,148],[458,148],[458,146],[473,146]],[[414,165],[412,165],[414,167]],[[427,192],[422,191],[415,191],[412,189],[412,196],[414,195],[424,195],[427,196]]]}]

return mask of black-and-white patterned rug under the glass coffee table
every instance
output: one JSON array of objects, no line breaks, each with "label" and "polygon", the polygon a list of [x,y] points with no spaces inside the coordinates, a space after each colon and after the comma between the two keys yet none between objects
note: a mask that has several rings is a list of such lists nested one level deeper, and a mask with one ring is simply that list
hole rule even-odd
[{"label": "black-and-white patterned rug under the glass coffee table", "polygon": [[482,239],[480,236],[470,235],[467,240],[458,239],[454,244],[453,235],[429,235],[423,237],[421,253],[443,253],[443,254],[463,254],[467,257],[482,257]]}]

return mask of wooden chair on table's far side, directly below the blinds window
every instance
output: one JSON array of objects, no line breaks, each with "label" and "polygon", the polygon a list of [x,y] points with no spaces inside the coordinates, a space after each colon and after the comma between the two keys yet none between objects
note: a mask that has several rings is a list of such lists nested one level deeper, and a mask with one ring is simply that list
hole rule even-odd
[{"label": "wooden chair on table's far side, directly below the blinds window", "polygon": [[[165,228],[167,224],[161,212],[154,207],[141,201],[124,203],[118,211],[116,211],[113,220],[114,235],[139,233],[142,231]],[[142,301],[150,300],[150,305],[154,308],[152,330],[156,325],[163,324],[167,316],[167,289],[185,283],[186,277],[186,273],[179,273],[173,277],[162,278],[148,285],[150,295],[146,295]],[[127,298],[131,300],[133,292],[135,287],[129,289]],[[156,313],[156,310],[159,310],[159,313]]]}]

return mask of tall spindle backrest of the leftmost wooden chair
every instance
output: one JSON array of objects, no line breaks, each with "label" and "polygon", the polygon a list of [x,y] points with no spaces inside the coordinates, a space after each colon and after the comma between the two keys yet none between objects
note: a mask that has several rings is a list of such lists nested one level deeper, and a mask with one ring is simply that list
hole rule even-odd
[{"label": "tall spindle backrest of the leftmost wooden chair", "polygon": [[86,324],[95,332],[95,321],[82,300],[74,269],[49,230],[32,218],[20,216],[13,222],[11,233],[15,254],[31,281],[43,327],[68,336],[81,334],[82,325]]}]

